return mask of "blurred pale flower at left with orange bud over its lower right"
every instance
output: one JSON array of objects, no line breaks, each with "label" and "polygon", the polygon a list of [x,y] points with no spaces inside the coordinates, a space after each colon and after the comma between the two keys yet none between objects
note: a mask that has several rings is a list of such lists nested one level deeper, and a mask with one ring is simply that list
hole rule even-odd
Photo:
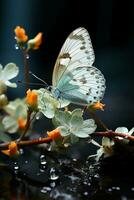
[{"label": "blurred pale flower at left with orange bud over its lower right", "polygon": [[21,99],[11,101],[4,110],[9,114],[2,120],[5,130],[8,133],[15,133],[19,129],[25,128],[27,119],[27,106]]}]

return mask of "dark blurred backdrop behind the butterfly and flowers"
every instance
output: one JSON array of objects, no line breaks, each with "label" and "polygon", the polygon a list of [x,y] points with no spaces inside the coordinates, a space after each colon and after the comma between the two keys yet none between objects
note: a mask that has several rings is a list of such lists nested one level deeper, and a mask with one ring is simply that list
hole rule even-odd
[{"label": "dark blurred backdrop behind the butterfly and flowers", "polygon": [[[41,48],[30,53],[30,69],[51,84],[56,57],[68,34],[79,26],[91,36],[98,67],[106,78],[98,113],[111,129],[134,126],[134,1],[128,0],[1,0],[0,63],[15,62],[17,79],[23,80],[23,59],[15,50],[14,28],[23,26],[30,38],[43,32]],[[16,80],[17,80],[16,79]],[[31,77],[31,81],[33,78]],[[11,96],[24,96],[24,87],[10,89]]]}]

